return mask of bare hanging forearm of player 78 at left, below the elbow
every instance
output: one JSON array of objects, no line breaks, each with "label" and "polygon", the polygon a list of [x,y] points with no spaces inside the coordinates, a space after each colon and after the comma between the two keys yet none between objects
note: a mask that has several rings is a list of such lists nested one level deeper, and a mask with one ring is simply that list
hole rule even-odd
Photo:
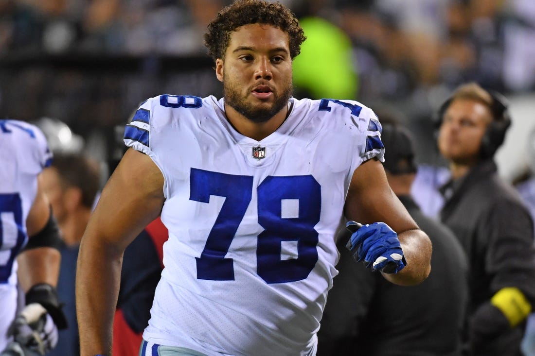
[{"label": "bare hanging forearm of player 78 at left, below the elbow", "polygon": [[85,236],[76,277],[76,309],[81,356],[110,355],[122,251]]}]

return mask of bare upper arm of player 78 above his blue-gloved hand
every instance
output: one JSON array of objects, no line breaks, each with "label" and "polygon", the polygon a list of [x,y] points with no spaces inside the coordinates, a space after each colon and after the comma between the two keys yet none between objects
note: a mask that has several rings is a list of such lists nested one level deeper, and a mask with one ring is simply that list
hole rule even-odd
[{"label": "bare upper arm of player 78 above his blue-gloved hand", "polygon": [[376,159],[355,169],[344,213],[347,219],[361,223],[385,222],[398,233],[418,227],[388,185],[383,165]]}]

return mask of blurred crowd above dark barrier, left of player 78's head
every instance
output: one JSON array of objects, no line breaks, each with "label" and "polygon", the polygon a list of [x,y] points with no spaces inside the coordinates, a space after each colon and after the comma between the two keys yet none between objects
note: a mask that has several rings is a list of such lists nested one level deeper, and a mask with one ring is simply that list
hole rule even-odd
[{"label": "blurred crowd above dark barrier, left of player 78's head", "polygon": [[2,52],[185,54],[202,46],[216,0],[5,0]]}]

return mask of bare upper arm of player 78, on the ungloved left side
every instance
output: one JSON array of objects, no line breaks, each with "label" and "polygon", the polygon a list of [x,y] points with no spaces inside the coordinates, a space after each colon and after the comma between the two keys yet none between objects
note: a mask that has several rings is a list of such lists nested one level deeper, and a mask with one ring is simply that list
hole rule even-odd
[{"label": "bare upper arm of player 78, on the ungloved left side", "polygon": [[102,191],[85,237],[124,250],[161,213],[163,185],[164,177],[154,161],[128,149]]}]

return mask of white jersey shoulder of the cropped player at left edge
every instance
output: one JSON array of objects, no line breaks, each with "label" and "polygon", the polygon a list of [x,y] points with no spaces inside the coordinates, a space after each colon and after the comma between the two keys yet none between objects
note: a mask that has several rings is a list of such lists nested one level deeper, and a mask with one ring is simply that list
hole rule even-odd
[{"label": "white jersey shoulder of the cropped player at left edge", "polygon": [[5,142],[9,142],[4,149],[11,149],[18,156],[34,160],[41,168],[51,164],[52,152],[39,127],[26,121],[6,119],[0,120],[0,133],[8,139]]}]

